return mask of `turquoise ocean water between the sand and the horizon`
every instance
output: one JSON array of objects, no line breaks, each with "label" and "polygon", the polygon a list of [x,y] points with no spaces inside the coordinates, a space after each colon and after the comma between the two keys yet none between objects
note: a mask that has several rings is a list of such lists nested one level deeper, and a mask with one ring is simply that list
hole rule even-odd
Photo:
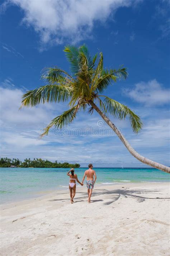
[{"label": "turquoise ocean water between the sand and the horizon", "polygon": [[[80,181],[86,169],[75,169]],[[94,170],[97,175],[95,186],[170,181],[169,174],[154,168],[94,168]],[[68,171],[69,169],[63,168],[0,168],[0,203],[21,201],[43,196],[53,190],[68,189],[69,177],[66,175]]]}]

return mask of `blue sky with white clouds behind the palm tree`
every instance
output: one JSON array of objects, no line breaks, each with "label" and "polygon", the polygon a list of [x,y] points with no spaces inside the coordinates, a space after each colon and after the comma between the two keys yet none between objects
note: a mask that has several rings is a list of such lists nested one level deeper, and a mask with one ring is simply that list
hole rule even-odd
[{"label": "blue sky with white clouds behind the palm tree", "polygon": [[128,79],[105,94],[135,111],[143,130],[136,135],[128,119],[110,117],[112,121],[137,152],[169,166],[169,14],[169,0],[4,1],[1,156],[78,162],[82,167],[89,162],[95,167],[148,167],[131,156],[98,113],[79,114],[68,129],[52,130],[39,140],[43,127],[68,106],[47,104],[18,111],[22,94],[43,85],[44,67],[69,71],[64,46],[85,43],[92,54],[103,52],[104,67],[128,68]]}]

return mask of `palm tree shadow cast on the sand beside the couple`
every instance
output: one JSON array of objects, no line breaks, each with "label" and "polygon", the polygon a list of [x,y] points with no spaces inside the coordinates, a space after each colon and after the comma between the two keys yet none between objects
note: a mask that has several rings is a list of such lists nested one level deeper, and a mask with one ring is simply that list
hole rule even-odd
[{"label": "palm tree shadow cast on the sand beside the couple", "polygon": [[[97,189],[95,191],[93,191],[93,194],[91,196],[91,198],[95,197],[95,196],[103,196],[103,195],[108,195],[110,201],[109,202],[104,202],[104,205],[110,205],[112,203],[114,203],[115,201],[121,199],[121,197],[133,197],[135,198],[139,203],[144,202],[146,199],[170,199],[170,197],[146,197],[146,196],[142,196],[143,194],[146,193],[153,193],[153,194],[159,194],[161,195],[161,193],[157,193],[160,192],[159,190],[147,190],[147,189],[140,189],[140,190],[128,190],[128,189],[114,189],[114,190],[107,190],[107,189]],[[58,193],[57,193],[58,194]],[[59,193],[61,194],[61,193]],[[62,193],[62,194],[66,194],[66,193]],[[82,195],[79,198],[77,198],[77,202],[81,202],[84,201],[83,199],[87,198],[87,193],[85,192],[77,192],[76,194]],[[70,200],[70,198],[67,199],[52,199],[49,201],[61,201],[61,200]],[[92,202],[99,202],[99,201],[103,201],[103,199],[99,199],[99,200],[91,200]]]}]

